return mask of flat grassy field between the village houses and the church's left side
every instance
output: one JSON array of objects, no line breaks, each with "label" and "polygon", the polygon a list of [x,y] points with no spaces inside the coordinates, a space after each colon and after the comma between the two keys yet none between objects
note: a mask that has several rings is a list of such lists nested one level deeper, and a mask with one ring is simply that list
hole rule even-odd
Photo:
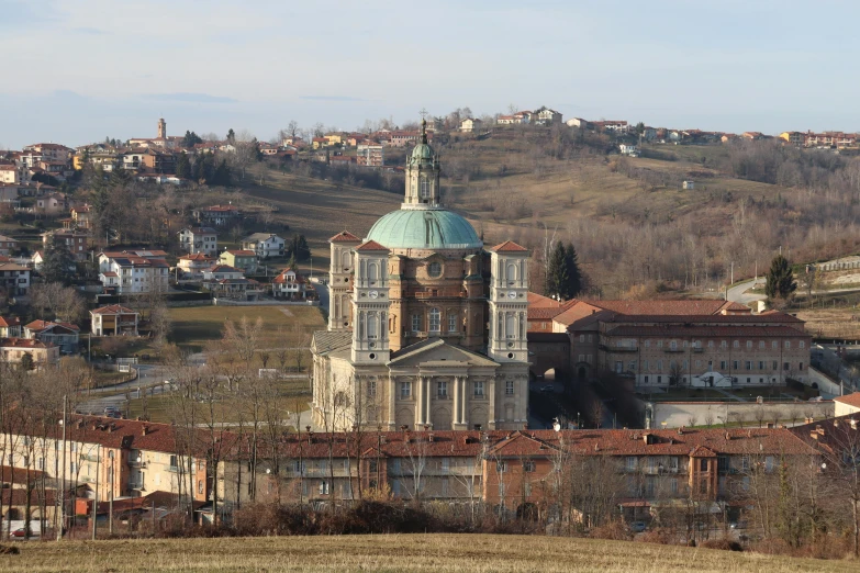
[{"label": "flat grassy field between the village houses and the church's left side", "polygon": [[325,323],[315,306],[189,306],[170,308],[170,339],[179,346],[200,351],[208,341],[221,338],[226,321],[238,324],[247,318],[252,324],[263,319],[258,348],[291,348],[308,345],[303,339]]}]

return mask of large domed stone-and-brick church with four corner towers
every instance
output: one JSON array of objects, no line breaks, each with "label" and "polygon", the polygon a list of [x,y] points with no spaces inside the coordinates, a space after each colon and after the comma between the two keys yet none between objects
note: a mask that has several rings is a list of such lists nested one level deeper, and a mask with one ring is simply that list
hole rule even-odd
[{"label": "large domed stone-and-brick church with four corner towers", "polygon": [[439,205],[426,123],[400,210],[330,239],[328,329],[314,334],[324,429],[517,429],[528,407],[528,250],[484,249]]}]

